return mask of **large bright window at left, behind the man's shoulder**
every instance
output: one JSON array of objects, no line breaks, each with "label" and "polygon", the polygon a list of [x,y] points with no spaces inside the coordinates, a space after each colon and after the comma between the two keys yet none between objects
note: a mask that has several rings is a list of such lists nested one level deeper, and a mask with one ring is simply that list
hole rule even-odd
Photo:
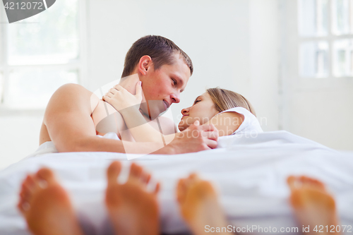
[{"label": "large bright window at left, behind the man's shoulder", "polygon": [[1,10],[1,109],[44,109],[65,83],[83,83],[83,0],[60,0],[8,23]]}]

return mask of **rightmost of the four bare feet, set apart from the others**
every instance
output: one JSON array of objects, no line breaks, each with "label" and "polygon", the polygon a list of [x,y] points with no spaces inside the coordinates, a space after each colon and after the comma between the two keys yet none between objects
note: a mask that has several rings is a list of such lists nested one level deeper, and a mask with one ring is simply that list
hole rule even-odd
[{"label": "rightmost of the four bare feet, set apart from the others", "polygon": [[[317,234],[321,231],[322,234],[332,234],[335,232],[336,226],[339,225],[335,200],[325,190],[324,184],[306,176],[289,176],[287,183],[292,192],[289,198],[290,203],[299,224],[304,227],[309,226],[309,232],[306,233]],[[340,233],[336,232],[336,234]]]}]

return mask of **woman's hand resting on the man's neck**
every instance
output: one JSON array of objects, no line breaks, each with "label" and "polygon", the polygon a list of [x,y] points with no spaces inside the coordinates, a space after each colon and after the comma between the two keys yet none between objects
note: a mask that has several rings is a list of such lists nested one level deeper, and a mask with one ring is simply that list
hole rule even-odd
[{"label": "woman's hand resting on the man's neck", "polygon": [[129,107],[134,107],[136,109],[140,108],[140,103],[142,100],[142,82],[136,83],[136,95],[132,95],[121,85],[115,85],[114,88],[110,89],[104,96],[103,100],[112,104],[112,107],[116,111],[126,109]]}]

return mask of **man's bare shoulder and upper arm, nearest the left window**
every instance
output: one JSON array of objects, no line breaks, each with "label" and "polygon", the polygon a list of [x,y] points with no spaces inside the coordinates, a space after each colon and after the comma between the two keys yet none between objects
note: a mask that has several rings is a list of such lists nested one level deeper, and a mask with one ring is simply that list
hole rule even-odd
[{"label": "man's bare shoulder and upper arm, nearest the left window", "polygon": [[98,100],[80,85],[61,86],[49,100],[44,114],[50,139],[59,152],[82,150],[86,140],[96,137],[90,117]]}]

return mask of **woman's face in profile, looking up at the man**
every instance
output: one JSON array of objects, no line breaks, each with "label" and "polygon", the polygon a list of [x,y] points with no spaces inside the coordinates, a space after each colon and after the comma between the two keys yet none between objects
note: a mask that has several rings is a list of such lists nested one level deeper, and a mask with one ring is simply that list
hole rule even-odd
[{"label": "woman's face in profile, looking up at the man", "polygon": [[210,121],[210,119],[218,113],[210,95],[208,95],[208,92],[205,92],[203,95],[196,98],[195,102],[193,102],[193,106],[181,110],[183,117],[179,122],[178,128],[180,131],[184,131],[196,120],[200,121],[200,125],[202,125]]}]

